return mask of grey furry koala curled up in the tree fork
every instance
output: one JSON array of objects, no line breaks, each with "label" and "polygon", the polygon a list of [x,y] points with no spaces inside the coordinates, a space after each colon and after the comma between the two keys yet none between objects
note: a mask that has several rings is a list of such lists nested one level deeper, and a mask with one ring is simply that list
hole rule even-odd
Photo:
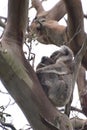
[{"label": "grey furry koala curled up in the tree fork", "polygon": [[65,106],[72,94],[73,52],[63,45],[40,64],[36,74],[47,97],[56,107]]}]

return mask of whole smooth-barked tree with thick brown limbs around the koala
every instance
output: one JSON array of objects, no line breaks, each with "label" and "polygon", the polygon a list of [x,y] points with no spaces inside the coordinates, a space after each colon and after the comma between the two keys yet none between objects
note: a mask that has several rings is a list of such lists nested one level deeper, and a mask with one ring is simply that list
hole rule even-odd
[{"label": "whole smooth-barked tree with thick brown limbs around the koala", "polygon": [[[30,2],[30,1],[29,1]],[[0,78],[22,109],[30,125],[35,130],[72,130],[75,120],[67,117],[67,113],[61,113],[45,95],[35,71],[25,59],[23,52],[26,30],[37,35],[37,40],[44,44],[65,44],[69,46],[77,57],[80,48],[85,45],[81,53],[82,65],[78,75],[79,96],[82,111],[86,115],[86,80],[84,72],[87,69],[86,33],[84,32],[84,14],[80,0],[61,0],[51,10],[45,11],[41,1],[32,0],[32,6],[37,11],[37,22],[34,20],[29,28],[28,0],[9,0],[7,24],[0,42]],[[80,10],[80,11],[79,11]],[[68,14],[67,27],[60,26],[57,22]],[[31,32],[30,32],[30,30]],[[28,35],[30,39],[30,35]],[[84,55],[84,57],[83,57]],[[83,59],[82,59],[83,58]],[[77,77],[77,71],[76,71]],[[74,80],[76,80],[76,77]],[[81,84],[79,84],[81,82]],[[82,100],[83,99],[83,100]],[[69,107],[70,108],[70,105]],[[83,130],[87,125],[84,120],[77,120],[76,128]],[[80,125],[78,125],[80,124]]]}]

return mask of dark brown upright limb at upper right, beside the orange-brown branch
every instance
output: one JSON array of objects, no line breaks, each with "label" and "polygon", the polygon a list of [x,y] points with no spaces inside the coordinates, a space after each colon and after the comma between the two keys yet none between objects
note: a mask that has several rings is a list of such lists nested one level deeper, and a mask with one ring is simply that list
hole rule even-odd
[{"label": "dark brown upright limb at upper right, beside the orange-brown branch", "polygon": [[[80,0],[64,0],[66,9],[68,12],[68,35],[69,40],[78,32],[78,34],[72,39],[69,46],[73,50],[74,54],[81,48],[84,39],[87,35],[84,33],[84,15]],[[78,10],[80,9],[80,11]],[[82,64],[87,69],[87,52],[85,53]]]}]

